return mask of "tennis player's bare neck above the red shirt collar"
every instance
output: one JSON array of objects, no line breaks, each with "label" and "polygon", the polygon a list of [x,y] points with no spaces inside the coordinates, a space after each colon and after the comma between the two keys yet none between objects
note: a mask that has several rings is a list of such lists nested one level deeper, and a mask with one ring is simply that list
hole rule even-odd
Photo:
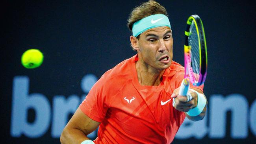
[{"label": "tennis player's bare neck above the red shirt collar", "polygon": [[135,67],[140,85],[157,86],[161,83],[164,70],[157,70],[140,59],[135,63]]}]

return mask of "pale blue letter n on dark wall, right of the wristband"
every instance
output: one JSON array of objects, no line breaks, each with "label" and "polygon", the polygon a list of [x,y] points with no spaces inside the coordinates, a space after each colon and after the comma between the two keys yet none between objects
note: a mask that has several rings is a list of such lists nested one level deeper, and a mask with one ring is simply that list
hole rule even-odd
[{"label": "pale blue letter n on dark wall, right of the wristband", "polygon": [[248,102],[241,94],[228,96],[213,95],[210,98],[210,138],[224,138],[226,136],[226,113],[231,111],[232,138],[246,138],[248,136],[247,111]]}]

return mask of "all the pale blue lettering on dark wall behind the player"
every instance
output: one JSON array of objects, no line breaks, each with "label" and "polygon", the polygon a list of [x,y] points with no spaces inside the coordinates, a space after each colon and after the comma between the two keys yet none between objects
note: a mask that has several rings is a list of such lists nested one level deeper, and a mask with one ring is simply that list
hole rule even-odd
[{"label": "all the pale blue lettering on dark wall behind the player", "polygon": [[[51,135],[53,138],[58,138],[68,122],[69,114],[76,111],[97,80],[94,74],[87,74],[82,78],[81,88],[84,92],[82,96],[75,94],[68,97],[53,96],[51,113],[51,104],[46,96],[39,93],[29,94],[29,78],[15,76],[13,79],[11,136],[21,137],[23,134],[29,138],[42,137],[49,130],[52,122]],[[249,127],[252,134],[256,136],[256,100],[252,102],[249,109],[246,97],[241,94],[211,95],[208,98],[208,112],[205,118],[198,122],[186,118],[175,138],[201,139],[207,135],[210,138],[226,137],[226,113],[228,111],[231,112],[230,137],[247,138]],[[28,122],[28,109],[35,111],[33,122]],[[50,121],[51,118],[52,121]],[[87,137],[95,138],[97,131],[98,129]]]}]

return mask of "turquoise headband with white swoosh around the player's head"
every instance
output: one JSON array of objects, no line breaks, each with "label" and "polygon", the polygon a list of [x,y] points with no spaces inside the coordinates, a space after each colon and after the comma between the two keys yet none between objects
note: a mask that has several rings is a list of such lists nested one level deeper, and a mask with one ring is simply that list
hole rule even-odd
[{"label": "turquoise headband with white swoosh around the player's head", "polygon": [[137,37],[139,34],[150,28],[156,28],[160,26],[168,26],[171,28],[171,24],[166,15],[157,14],[145,17],[132,25],[132,35]]}]

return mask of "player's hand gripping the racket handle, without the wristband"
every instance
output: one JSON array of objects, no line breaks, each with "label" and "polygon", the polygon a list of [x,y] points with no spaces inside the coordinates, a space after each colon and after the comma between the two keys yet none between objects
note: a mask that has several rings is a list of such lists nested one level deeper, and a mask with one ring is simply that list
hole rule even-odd
[{"label": "player's hand gripping the racket handle, without the wristband", "polygon": [[197,93],[191,90],[188,90],[188,94],[192,96],[191,100],[187,102],[187,96],[179,96],[180,87],[173,91],[171,98],[175,98],[175,105],[174,108],[178,111],[188,112],[190,109],[193,109],[197,106]]}]

